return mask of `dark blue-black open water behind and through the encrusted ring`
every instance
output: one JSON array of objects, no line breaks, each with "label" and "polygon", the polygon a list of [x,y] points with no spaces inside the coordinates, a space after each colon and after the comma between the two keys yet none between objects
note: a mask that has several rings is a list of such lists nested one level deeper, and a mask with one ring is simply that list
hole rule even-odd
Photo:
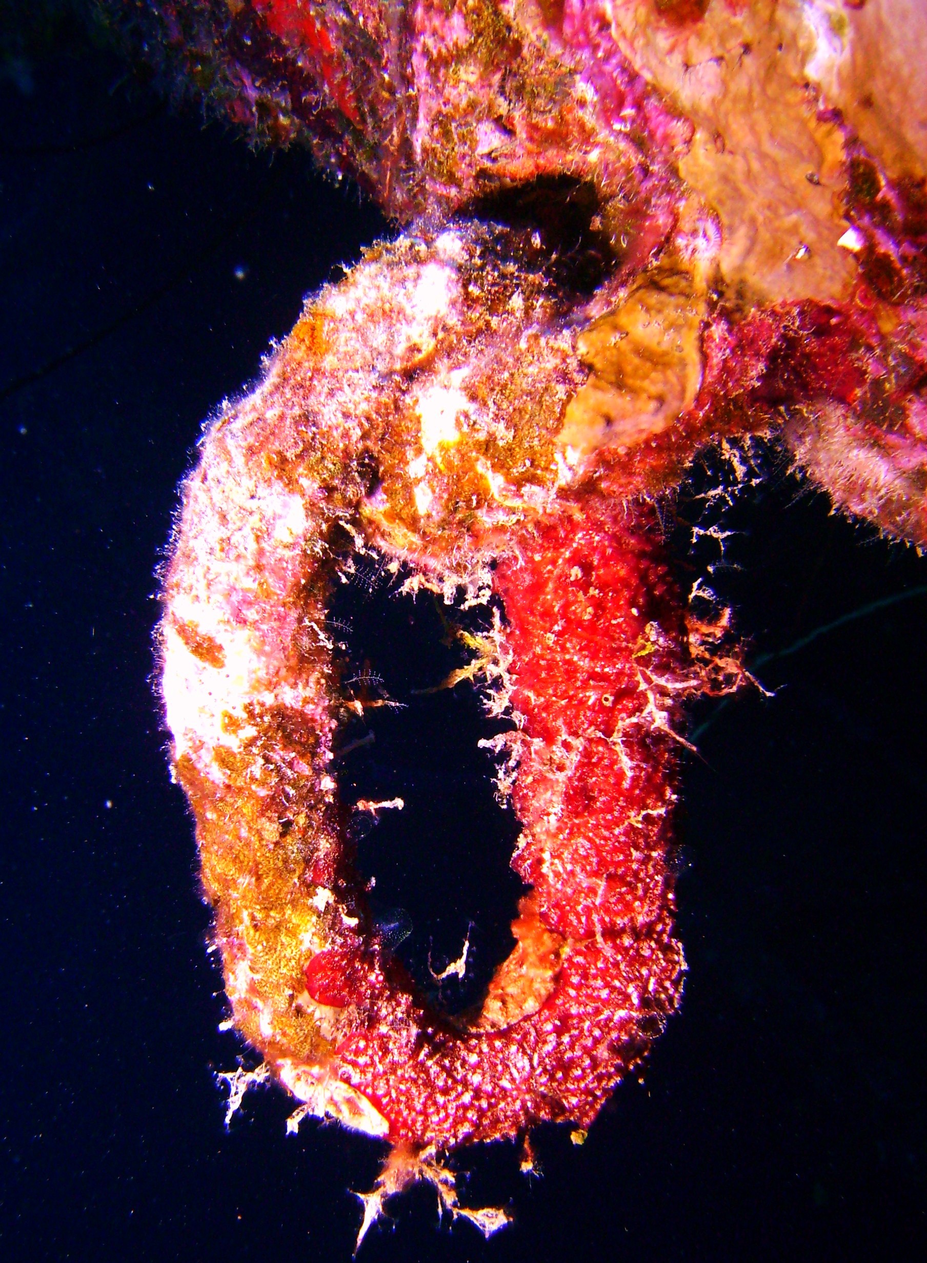
[{"label": "dark blue-black open water behind and through the encrusted ring", "polygon": [[[386,226],[305,154],[254,154],[125,73],[90,47],[0,71],[0,1253],[336,1263],[379,1151],[315,1123],[287,1138],[276,1090],[223,1128],[212,1071],[243,1050],[216,1029],[152,633],[202,419]],[[911,549],[765,465],[728,515],[742,568],[717,580],[755,658],[927,584]],[[438,659],[416,648],[411,681],[412,615],[381,605],[374,666],[401,693]],[[474,1204],[516,1214],[488,1244],[439,1230],[420,1190],[362,1258],[924,1257],[926,613],[897,600],[770,658],[771,701],[702,703],[689,976],[642,1082],[582,1148],[541,1132],[537,1181],[508,1147],[464,1156]],[[454,763],[476,706],[403,714],[354,773],[403,793],[415,827],[364,863],[411,917],[412,964],[473,921],[491,967],[516,887],[488,768]]]}]

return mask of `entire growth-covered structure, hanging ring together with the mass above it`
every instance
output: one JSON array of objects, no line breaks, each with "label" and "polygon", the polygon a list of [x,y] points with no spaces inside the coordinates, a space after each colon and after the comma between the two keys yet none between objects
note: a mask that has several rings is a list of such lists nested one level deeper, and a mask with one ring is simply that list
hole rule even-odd
[{"label": "entire growth-covered structure, hanging ring together with the mass above it", "polygon": [[[505,1216],[463,1209],[444,1157],[543,1120],[580,1134],[679,1000],[684,702],[745,673],[725,611],[699,621],[678,590],[655,498],[699,451],[764,434],[837,506],[927,544],[927,10],[104,8],[402,227],[211,423],[162,690],[261,1074],[301,1103],[293,1125],[392,1146],[362,1235],[417,1178],[488,1233]],[[494,610],[448,683],[511,720],[497,786],[531,889],[465,1017],[417,995],[350,864],[333,751],[371,702],[326,602],[372,551],[407,590]]]}]

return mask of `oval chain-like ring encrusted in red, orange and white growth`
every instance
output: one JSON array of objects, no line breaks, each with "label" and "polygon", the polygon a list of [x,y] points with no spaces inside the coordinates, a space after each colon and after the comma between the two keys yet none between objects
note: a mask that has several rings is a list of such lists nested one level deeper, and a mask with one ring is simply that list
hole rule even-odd
[{"label": "oval chain-like ring encrusted in red, orange and white growth", "polygon": [[[235,1023],[316,1113],[420,1149],[587,1125],[682,981],[674,726],[703,679],[653,510],[558,460],[572,336],[531,251],[529,230],[449,229],[321,294],[207,433],[164,586],[162,690]],[[541,322],[544,354],[506,374]],[[532,893],[465,1031],[381,956],[331,775],[353,703],[325,599],[372,543],[506,610],[483,669]]]}]

